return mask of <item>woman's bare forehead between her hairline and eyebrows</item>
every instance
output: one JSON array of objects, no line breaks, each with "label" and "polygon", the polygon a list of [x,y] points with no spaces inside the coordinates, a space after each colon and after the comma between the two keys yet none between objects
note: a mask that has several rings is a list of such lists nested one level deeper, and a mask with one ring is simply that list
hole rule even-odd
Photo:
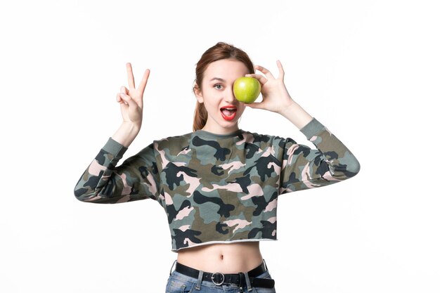
[{"label": "woman's bare forehead between her hairline and eyebrows", "polygon": [[221,59],[209,64],[204,75],[207,81],[214,77],[225,80],[235,80],[247,73],[250,72],[245,63],[235,59]]}]

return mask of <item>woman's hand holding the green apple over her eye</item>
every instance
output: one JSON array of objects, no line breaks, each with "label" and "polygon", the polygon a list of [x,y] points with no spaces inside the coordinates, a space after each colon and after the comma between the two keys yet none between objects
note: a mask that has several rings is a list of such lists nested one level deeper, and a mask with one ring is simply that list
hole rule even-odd
[{"label": "woman's hand holding the green apple over her eye", "polygon": [[295,103],[290,97],[284,84],[284,70],[280,60],[276,61],[278,66],[278,78],[273,77],[272,73],[266,68],[256,65],[255,69],[259,70],[261,74],[246,74],[247,77],[254,77],[258,79],[261,84],[261,96],[263,100],[260,103],[245,104],[248,107],[255,109],[263,109],[271,112],[280,113]]}]

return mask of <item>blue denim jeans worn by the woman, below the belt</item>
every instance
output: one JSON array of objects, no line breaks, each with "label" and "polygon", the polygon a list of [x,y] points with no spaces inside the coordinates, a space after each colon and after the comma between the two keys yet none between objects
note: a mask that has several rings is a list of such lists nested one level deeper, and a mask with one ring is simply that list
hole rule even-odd
[{"label": "blue denim jeans worn by the woman, below the belt", "polygon": [[[269,271],[265,271],[257,278],[271,279]],[[275,288],[242,287],[243,293],[276,293]],[[173,271],[168,278],[167,293],[240,293],[240,288],[235,284],[215,285],[209,281],[199,281],[179,272]]]}]

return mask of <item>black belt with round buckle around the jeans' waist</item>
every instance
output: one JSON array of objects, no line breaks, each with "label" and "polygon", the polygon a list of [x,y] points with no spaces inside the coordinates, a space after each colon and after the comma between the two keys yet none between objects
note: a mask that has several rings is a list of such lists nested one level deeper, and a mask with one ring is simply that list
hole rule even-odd
[{"label": "black belt with round buckle around the jeans' waist", "polygon": [[[179,272],[183,275],[188,275],[188,277],[198,279],[199,278],[199,270],[195,268],[190,268],[189,266],[185,266],[181,263],[176,262],[176,272]],[[257,266],[257,268],[252,269],[247,272],[249,275],[250,284],[252,287],[260,287],[260,288],[273,288],[275,286],[275,280],[273,279],[263,279],[256,278],[266,271],[266,266],[264,262],[261,265]],[[223,285],[223,284],[235,284],[239,287],[244,287],[246,285],[245,274],[244,273],[207,273],[203,272],[203,281],[213,282],[215,285]]]}]

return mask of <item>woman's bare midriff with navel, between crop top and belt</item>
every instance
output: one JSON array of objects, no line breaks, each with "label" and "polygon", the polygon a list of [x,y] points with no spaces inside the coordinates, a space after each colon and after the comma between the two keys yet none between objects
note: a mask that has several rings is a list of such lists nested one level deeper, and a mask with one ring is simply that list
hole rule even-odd
[{"label": "woman's bare midriff with navel, between crop top and belt", "polygon": [[263,261],[259,242],[201,245],[182,249],[177,261],[208,273],[239,273],[256,268]]}]

